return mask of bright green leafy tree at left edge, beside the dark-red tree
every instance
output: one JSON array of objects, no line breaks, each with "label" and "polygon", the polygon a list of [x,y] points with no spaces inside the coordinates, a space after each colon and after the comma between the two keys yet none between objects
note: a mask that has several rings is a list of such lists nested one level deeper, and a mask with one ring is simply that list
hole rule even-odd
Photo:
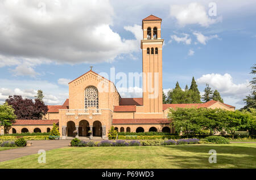
[{"label": "bright green leafy tree at left edge, beside the dark-red tree", "polygon": [[16,115],[12,106],[5,104],[0,105],[0,126],[8,127],[15,122]]}]

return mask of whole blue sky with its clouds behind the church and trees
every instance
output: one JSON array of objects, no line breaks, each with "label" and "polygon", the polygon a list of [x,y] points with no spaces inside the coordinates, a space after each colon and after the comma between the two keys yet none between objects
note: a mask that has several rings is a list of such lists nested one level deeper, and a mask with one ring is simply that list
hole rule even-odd
[{"label": "whole blue sky with its clouds behind the church and trees", "polygon": [[[201,92],[208,83],[241,108],[256,63],[256,2],[155,2],[1,1],[0,103],[42,89],[46,104],[62,104],[67,82],[90,66],[140,73],[142,19],[153,14],[163,19],[164,91],[177,81],[184,88],[195,76]],[[139,88],[121,95],[139,97]]]}]

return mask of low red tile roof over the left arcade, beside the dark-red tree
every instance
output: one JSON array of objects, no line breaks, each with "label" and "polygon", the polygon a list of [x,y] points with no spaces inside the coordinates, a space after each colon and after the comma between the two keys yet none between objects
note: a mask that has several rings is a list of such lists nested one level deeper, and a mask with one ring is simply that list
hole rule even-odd
[{"label": "low red tile roof over the left arcade, beside the dark-red tree", "polygon": [[59,123],[58,119],[43,120],[43,119],[16,119],[13,125],[53,125],[53,123]]}]

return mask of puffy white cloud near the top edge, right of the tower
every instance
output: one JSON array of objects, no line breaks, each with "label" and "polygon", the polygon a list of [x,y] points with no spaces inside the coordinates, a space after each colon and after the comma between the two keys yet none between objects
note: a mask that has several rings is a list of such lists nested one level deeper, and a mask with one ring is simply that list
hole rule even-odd
[{"label": "puffy white cloud near the top edge, right of the tower", "polygon": [[177,23],[181,26],[200,24],[203,27],[208,27],[210,24],[220,22],[221,20],[221,18],[209,18],[205,7],[197,2],[192,2],[187,5],[171,5],[170,15],[176,18]]}]

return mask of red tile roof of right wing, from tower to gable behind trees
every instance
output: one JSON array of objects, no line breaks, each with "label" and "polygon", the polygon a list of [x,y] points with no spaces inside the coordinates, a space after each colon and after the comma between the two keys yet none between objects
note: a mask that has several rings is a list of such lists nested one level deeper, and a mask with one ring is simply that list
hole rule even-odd
[{"label": "red tile roof of right wing, from tower to gable behind trees", "polygon": [[[163,110],[166,110],[168,108],[209,108],[213,104],[215,104],[218,101],[210,100],[205,103],[200,103],[200,104],[163,104]],[[224,104],[220,102],[221,104],[228,106],[228,108],[236,108],[232,105]]]}]

